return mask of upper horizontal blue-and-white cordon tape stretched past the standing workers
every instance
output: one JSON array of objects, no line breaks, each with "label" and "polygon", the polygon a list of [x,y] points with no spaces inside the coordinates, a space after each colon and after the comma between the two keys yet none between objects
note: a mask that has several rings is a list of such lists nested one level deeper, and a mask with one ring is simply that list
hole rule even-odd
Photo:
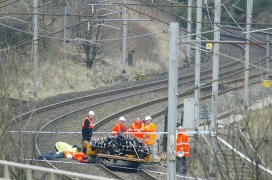
[{"label": "upper horizontal blue-and-white cordon tape stretched past the standing workers", "polygon": [[[10,133],[41,133],[41,134],[81,134],[81,131],[9,131]],[[120,132],[118,132],[119,134]],[[112,134],[112,132],[93,132],[93,134]],[[120,134],[168,134],[168,132],[126,132]],[[216,132],[211,131],[184,131],[176,134],[211,134],[216,136]]]}]

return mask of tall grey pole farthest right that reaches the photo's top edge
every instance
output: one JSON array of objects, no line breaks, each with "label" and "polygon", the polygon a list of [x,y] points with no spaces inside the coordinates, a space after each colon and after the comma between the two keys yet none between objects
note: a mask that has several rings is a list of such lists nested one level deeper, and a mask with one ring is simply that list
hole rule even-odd
[{"label": "tall grey pole farthest right that reaches the photo's top edge", "polygon": [[[246,8],[246,23],[250,23],[251,22],[251,5],[252,5],[252,0],[247,0],[247,8]],[[246,25],[246,31],[250,31],[250,24]],[[246,34],[246,38],[247,38],[247,42],[249,42],[250,39],[250,33]],[[246,55],[245,55],[245,69],[249,68],[249,44],[246,44]],[[249,70],[245,71],[245,95],[244,95],[244,108],[247,109],[249,106],[249,102],[248,102],[248,83],[249,83]]]}]

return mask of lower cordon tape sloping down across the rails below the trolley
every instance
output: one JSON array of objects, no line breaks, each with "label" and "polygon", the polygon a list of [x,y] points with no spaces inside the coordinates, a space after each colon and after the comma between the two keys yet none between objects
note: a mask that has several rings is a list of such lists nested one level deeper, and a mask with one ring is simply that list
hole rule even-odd
[{"label": "lower cordon tape sloping down across the rails below the trolley", "polygon": [[[15,159],[17,159],[17,158],[15,158]],[[27,158],[22,158],[22,159],[23,160],[30,160],[30,161],[40,161],[40,162],[52,162],[52,163],[64,163],[64,164],[79,164],[79,165],[99,166],[99,164],[91,164],[91,163],[64,162],[64,161],[55,161],[55,160],[41,160],[41,159],[27,159]],[[131,170],[141,170],[141,169],[138,169],[138,168],[128,168],[128,167],[122,167],[122,166],[113,166],[113,165],[105,165],[105,166],[114,167],[114,168],[131,169]],[[167,175],[167,173],[165,173],[165,172],[151,171],[151,170],[146,170],[146,169],[143,169],[143,170],[147,171],[147,172],[152,172],[152,173]],[[177,177],[181,177],[181,178],[187,178],[187,179],[207,180],[207,179],[194,178],[194,177],[185,176],[185,175],[176,175],[176,176]]]}]

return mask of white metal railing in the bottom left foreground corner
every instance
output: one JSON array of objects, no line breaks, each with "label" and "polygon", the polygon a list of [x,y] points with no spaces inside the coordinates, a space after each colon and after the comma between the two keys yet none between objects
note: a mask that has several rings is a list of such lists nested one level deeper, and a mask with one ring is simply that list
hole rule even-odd
[{"label": "white metal railing in the bottom left foreground corner", "polygon": [[17,167],[17,168],[23,168],[26,169],[26,180],[32,180],[32,171],[41,171],[41,172],[47,172],[50,173],[50,180],[55,180],[55,175],[65,175],[73,177],[75,180],[79,180],[79,178],[82,179],[89,179],[89,180],[117,180],[112,178],[105,178],[101,176],[94,176],[94,175],[88,175],[88,174],[82,174],[78,172],[70,172],[70,171],[63,171],[63,170],[57,170],[52,168],[45,168],[40,166],[33,166],[29,164],[21,164],[17,162],[11,162],[6,160],[0,160],[0,165],[4,165],[4,177],[0,180],[8,180],[10,179],[10,172],[9,167]]}]

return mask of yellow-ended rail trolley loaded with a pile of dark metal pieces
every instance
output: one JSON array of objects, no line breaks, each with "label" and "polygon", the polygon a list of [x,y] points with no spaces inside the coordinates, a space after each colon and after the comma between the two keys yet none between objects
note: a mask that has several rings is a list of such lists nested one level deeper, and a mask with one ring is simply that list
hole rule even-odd
[{"label": "yellow-ended rail trolley loaded with a pile of dark metal pieces", "polygon": [[127,138],[118,134],[116,137],[92,140],[83,146],[87,149],[86,154],[96,159],[96,163],[122,160],[129,162],[128,167],[137,168],[141,163],[151,162],[150,150],[137,138]]}]

